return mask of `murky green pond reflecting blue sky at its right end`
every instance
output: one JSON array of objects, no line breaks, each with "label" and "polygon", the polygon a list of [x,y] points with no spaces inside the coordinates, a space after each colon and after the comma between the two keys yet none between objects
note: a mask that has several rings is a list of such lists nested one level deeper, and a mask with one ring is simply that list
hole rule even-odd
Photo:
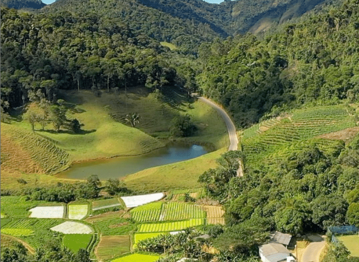
[{"label": "murky green pond reflecting blue sky at its right end", "polygon": [[99,159],[75,163],[66,171],[58,174],[58,178],[86,179],[90,175],[98,175],[100,180],[120,178],[138,171],[164,164],[199,157],[209,150],[198,145],[169,144],[150,153],[130,156]]}]

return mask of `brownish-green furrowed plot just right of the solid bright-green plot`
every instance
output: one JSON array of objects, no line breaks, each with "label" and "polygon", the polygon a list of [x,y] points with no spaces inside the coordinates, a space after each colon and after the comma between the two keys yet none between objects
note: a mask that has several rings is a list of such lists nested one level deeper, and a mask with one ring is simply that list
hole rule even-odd
[{"label": "brownish-green furrowed plot just right of the solid bright-green plot", "polygon": [[130,252],[130,245],[130,235],[101,236],[95,253],[98,261],[107,261]]}]

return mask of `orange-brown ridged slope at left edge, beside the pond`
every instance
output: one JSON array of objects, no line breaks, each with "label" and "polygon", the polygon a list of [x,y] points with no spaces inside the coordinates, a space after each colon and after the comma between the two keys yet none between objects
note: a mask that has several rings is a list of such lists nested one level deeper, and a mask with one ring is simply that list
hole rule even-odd
[{"label": "orange-brown ridged slope at left edge, beside the pond", "polygon": [[49,139],[1,123],[1,170],[55,173],[69,162],[69,154]]}]

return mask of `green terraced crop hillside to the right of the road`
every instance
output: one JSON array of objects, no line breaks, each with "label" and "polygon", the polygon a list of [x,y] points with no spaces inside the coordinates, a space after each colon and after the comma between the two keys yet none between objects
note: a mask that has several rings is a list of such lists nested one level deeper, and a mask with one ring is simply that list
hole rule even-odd
[{"label": "green terraced crop hillside to the right of the road", "polygon": [[[244,131],[242,144],[248,161],[263,157],[273,160],[271,153],[277,151],[278,154],[280,147],[299,148],[301,141],[354,126],[354,117],[342,105],[307,108],[280,120],[267,120],[254,125]],[[328,140],[321,141],[330,143]]]}]

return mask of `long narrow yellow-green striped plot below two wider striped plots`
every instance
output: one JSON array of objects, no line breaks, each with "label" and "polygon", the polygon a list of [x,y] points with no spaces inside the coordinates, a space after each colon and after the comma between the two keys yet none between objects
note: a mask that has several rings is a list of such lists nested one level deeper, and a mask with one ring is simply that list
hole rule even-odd
[{"label": "long narrow yellow-green striped plot below two wider striped plots", "polygon": [[139,232],[165,232],[176,231],[186,228],[192,228],[204,224],[204,219],[194,218],[176,222],[155,223],[155,224],[142,224]]}]

